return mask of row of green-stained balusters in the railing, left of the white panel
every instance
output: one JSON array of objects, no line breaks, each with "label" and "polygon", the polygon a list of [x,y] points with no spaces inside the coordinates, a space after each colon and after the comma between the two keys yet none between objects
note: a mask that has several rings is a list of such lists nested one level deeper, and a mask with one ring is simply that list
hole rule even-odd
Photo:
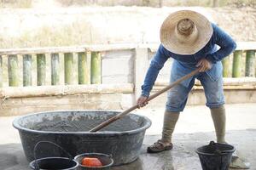
[{"label": "row of green-stained balusters in the railing, left of the white panel", "polygon": [[[59,53],[54,54],[11,54],[3,55],[0,57],[2,65],[7,63],[8,65],[8,81],[9,86],[32,86],[32,79],[37,79],[37,86],[46,85],[46,73],[49,71],[46,67],[46,63],[50,63],[50,84],[59,85],[61,77],[61,63]],[[78,64],[74,65],[73,53],[64,53],[64,84],[95,84],[101,83],[101,54],[98,52],[79,52],[76,54]],[[22,59],[21,59],[22,58]],[[6,60],[5,60],[6,59]],[[36,60],[36,65],[33,65]],[[22,62],[22,66],[19,62]],[[90,63],[88,63],[90,62]],[[20,67],[22,82],[19,82]],[[32,67],[37,68],[37,77],[32,77]],[[77,67],[77,68],[76,68]],[[78,77],[75,77],[74,70],[77,69]],[[2,66],[3,72],[6,71]],[[2,73],[3,75],[3,73]],[[3,79],[3,76],[2,76]],[[0,84],[3,86],[3,82]]]}]

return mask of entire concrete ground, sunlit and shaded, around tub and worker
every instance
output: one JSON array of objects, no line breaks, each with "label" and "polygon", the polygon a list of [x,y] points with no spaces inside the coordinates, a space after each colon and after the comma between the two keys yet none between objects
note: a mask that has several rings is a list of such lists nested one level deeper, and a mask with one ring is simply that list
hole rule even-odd
[{"label": "entire concrete ground, sunlit and shaded, around tub and worker", "polygon": [[[251,162],[250,169],[256,169],[256,104],[226,105],[227,135],[230,144]],[[137,161],[113,170],[190,170],[201,169],[196,148],[214,140],[213,124],[206,106],[188,106],[177,122],[173,135],[173,150],[160,154],[147,154],[148,144],[160,138],[164,109],[143,108],[134,111],[148,116],[152,126],[148,128],[141,155]],[[26,170],[28,162],[23,154],[20,137],[12,127],[15,116],[0,117],[0,169]]]}]

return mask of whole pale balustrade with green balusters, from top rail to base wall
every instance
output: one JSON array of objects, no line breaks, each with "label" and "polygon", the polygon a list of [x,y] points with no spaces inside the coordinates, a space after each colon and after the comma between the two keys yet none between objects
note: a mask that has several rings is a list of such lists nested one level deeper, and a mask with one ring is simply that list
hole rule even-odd
[{"label": "whole pale balustrade with green balusters, from top rail to base wall", "polygon": [[[112,44],[0,50],[0,116],[37,111],[124,109],[135,105],[150,59],[159,44]],[[238,42],[223,60],[227,103],[256,102],[255,42]],[[169,83],[172,59],[152,94]],[[248,76],[248,77],[246,77]],[[203,105],[195,82],[190,105]],[[241,95],[234,98],[234,95]],[[154,106],[163,106],[156,99]],[[161,105],[163,104],[163,105]]]}]

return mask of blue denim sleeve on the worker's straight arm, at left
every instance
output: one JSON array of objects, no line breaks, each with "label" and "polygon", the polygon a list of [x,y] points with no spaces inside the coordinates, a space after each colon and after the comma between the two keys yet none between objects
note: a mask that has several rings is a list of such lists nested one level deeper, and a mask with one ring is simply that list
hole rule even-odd
[{"label": "blue denim sleeve on the worker's straight arm, at left", "polygon": [[158,48],[154,58],[151,60],[146,77],[142,86],[142,95],[148,97],[151,89],[154,86],[154,82],[158,76],[159,71],[166,63],[168,59],[168,51],[161,44]]}]

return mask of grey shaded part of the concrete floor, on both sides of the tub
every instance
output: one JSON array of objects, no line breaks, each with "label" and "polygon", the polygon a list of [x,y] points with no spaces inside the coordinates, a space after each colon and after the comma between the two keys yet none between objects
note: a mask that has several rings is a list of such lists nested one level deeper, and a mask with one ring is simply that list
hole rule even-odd
[{"label": "grey shaded part of the concrete floor, on both sides of the tub", "polygon": [[[159,135],[146,136],[137,161],[112,167],[112,170],[200,170],[201,164],[195,150],[214,139],[214,133],[177,133],[173,137],[173,150],[147,154],[148,145],[159,138]],[[256,129],[228,131],[227,140],[237,148],[241,156],[251,162],[251,169],[255,170]],[[0,145],[0,167],[1,170],[29,169],[21,144]]]}]

